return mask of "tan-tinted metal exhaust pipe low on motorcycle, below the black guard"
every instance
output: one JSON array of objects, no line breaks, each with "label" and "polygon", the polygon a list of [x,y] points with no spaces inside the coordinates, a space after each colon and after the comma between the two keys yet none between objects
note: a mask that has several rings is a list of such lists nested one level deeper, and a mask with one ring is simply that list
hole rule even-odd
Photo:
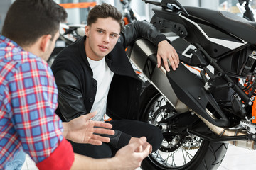
[{"label": "tan-tinted metal exhaust pipe low on motorcycle, below the black guard", "polygon": [[[206,109],[206,112],[213,119],[215,119],[215,116],[212,113],[210,113],[210,111],[208,111],[208,109]],[[196,113],[196,115],[198,115],[198,114]],[[210,128],[210,130],[212,130],[216,135],[225,136],[225,137],[247,135],[247,132],[245,130],[229,130],[226,128],[220,128],[220,127],[210,123],[208,120],[203,118],[201,115],[198,115],[198,117],[201,118],[201,120],[203,120],[203,123],[206,123],[208,128]],[[228,141],[228,143],[231,145],[235,145],[237,147],[242,147],[242,148],[249,149],[249,150],[256,150],[256,143],[253,140],[234,140],[234,141]]]}]

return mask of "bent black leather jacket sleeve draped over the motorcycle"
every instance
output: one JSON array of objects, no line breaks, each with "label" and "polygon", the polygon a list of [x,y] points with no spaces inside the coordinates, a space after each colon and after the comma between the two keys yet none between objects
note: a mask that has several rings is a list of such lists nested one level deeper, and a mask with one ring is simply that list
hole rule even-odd
[{"label": "bent black leather jacket sleeve draped over the motorcycle", "polygon": [[147,21],[134,21],[124,26],[120,34],[119,42],[126,48],[137,38],[146,38],[147,40],[158,45],[159,42],[167,40],[166,36]]}]

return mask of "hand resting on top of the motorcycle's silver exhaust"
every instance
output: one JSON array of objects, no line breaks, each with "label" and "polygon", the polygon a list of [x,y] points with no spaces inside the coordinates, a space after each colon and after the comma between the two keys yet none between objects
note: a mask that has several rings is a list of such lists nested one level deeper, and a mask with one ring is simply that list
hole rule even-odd
[{"label": "hand resting on top of the motorcycle's silver exhaust", "polygon": [[174,47],[170,45],[167,40],[161,41],[158,44],[157,67],[161,66],[161,59],[163,60],[164,67],[166,68],[167,72],[170,71],[169,64],[171,64],[173,70],[176,70],[176,68],[178,68],[178,54]]}]

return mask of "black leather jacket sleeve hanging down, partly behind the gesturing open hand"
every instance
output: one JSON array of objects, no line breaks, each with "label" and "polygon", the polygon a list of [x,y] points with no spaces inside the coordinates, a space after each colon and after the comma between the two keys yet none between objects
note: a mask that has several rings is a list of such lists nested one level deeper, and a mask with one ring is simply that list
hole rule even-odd
[{"label": "black leather jacket sleeve hanging down, partly behind the gesturing open hand", "polygon": [[[55,74],[55,81],[58,86],[58,103],[60,112],[66,121],[78,118],[87,114],[84,99],[80,91],[79,81],[74,74],[60,70]],[[131,139],[130,135],[119,130],[114,130],[114,135],[102,135],[110,137],[109,144],[114,148],[124,147]]]}]

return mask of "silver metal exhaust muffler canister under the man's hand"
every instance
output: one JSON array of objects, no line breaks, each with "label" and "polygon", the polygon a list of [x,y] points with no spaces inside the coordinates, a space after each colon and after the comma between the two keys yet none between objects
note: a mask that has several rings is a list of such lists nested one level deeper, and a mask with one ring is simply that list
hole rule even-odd
[{"label": "silver metal exhaust muffler canister under the man's hand", "polygon": [[165,96],[178,113],[186,113],[188,107],[176,97],[165,72],[157,68],[156,46],[149,40],[141,38],[127,48],[127,55],[131,62],[144,74],[144,77]]}]

